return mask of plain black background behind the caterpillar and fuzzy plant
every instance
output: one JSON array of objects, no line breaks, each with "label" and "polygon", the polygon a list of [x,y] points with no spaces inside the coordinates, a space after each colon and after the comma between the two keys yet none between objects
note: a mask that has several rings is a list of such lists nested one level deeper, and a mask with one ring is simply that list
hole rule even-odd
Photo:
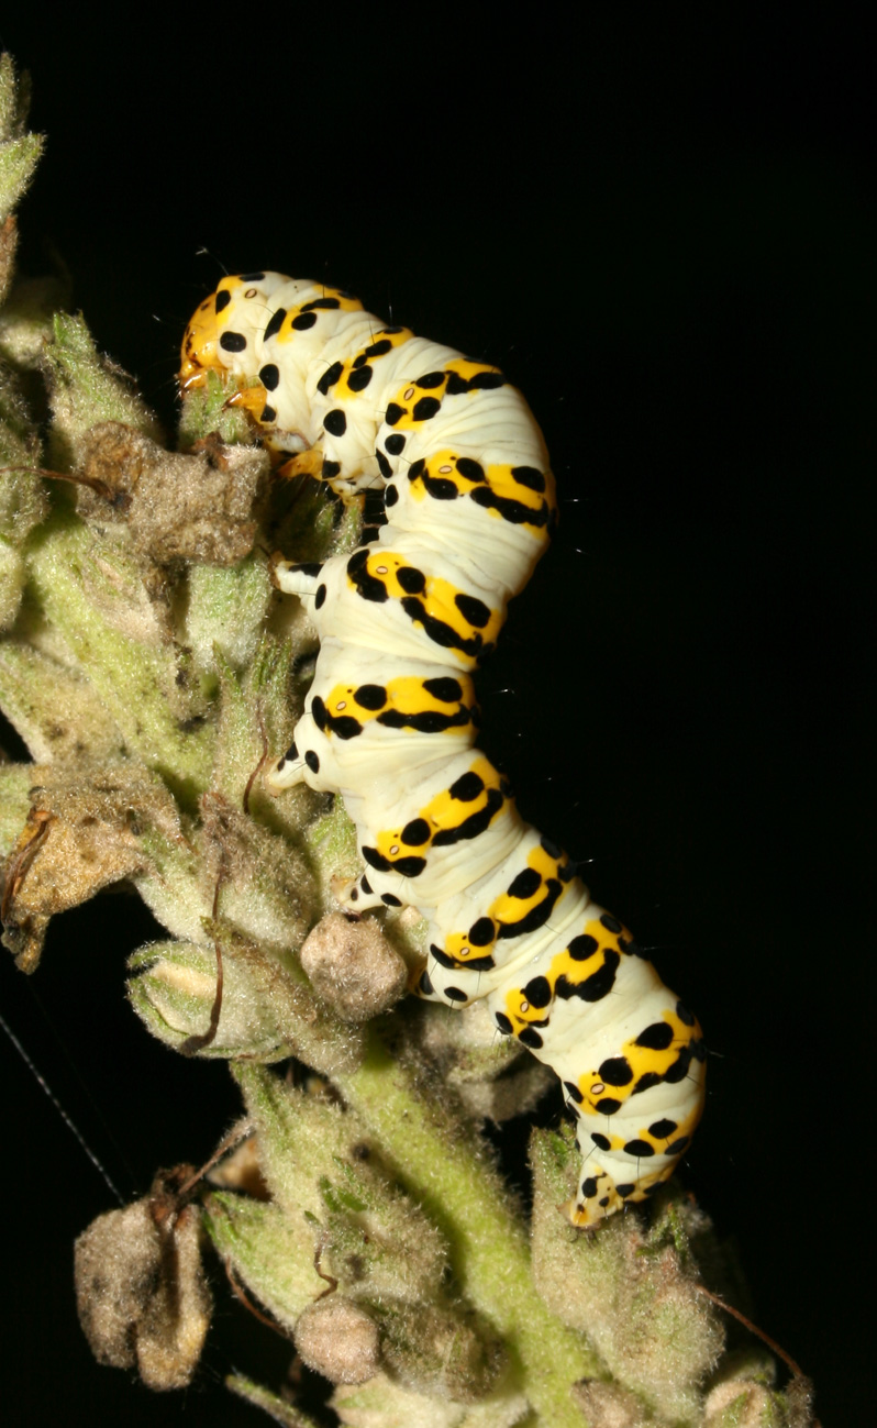
[{"label": "plain black background behind the caterpillar and fuzzy plant", "polygon": [[[169,13],[124,37],[36,9],[4,23],[49,134],[23,264],[63,257],[169,427],[183,327],[223,270],[326,277],[526,391],[563,520],[484,671],[486,743],[698,1010],[710,1098],[686,1184],[826,1428],[853,1422],[873,1181],[867,37],[800,13],[794,33],[434,13],[417,33],[396,7]],[[124,1004],[124,952],[150,935],[116,897],[53,925],[30,984],[0,970],[4,1015],[126,1197],[236,1111],[221,1067],[171,1057]],[[234,1308],[184,1395],[93,1365],[70,1242],[111,1198],[0,1057],[6,1421],[257,1424],[221,1374],[280,1382],[289,1351]]]}]

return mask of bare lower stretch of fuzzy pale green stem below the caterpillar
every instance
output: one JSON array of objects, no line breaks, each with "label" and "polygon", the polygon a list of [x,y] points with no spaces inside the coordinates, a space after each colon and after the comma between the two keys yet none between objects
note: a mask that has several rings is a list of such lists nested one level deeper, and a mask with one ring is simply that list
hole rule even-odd
[{"label": "bare lower stretch of fuzzy pale green stem below the caterpillar", "polygon": [[538,1298],[526,1228],[477,1140],[461,1137],[440,1105],[419,1094],[410,1070],[374,1028],[363,1065],[333,1080],[447,1235],[460,1288],[503,1335],[537,1421],[583,1428],[570,1389],[601,1365]]}]

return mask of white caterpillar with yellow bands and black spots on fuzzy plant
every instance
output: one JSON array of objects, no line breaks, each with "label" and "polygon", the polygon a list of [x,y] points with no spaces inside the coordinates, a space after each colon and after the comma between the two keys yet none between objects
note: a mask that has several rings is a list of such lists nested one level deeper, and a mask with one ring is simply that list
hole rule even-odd
[{"label": "white caterpillar with yellow bands and black spots on fuzzy plant", "polygon": [[181,387],[209,371],[281,473],[344,500],[383,491],[384,524],[351,555],[276,564],[309,598],[320,653],[269,787],[341,794],[364,871],[340,904],[417,908],[419,995],[486,997],[497,1031],[557,1072],[583,1154],[571,1222],[647,1200],[700,1120],[700,1025],[476,747],[473,671],[556,523],[530,408],[496,367],[279,273],[226,277],[200,304]]}]

